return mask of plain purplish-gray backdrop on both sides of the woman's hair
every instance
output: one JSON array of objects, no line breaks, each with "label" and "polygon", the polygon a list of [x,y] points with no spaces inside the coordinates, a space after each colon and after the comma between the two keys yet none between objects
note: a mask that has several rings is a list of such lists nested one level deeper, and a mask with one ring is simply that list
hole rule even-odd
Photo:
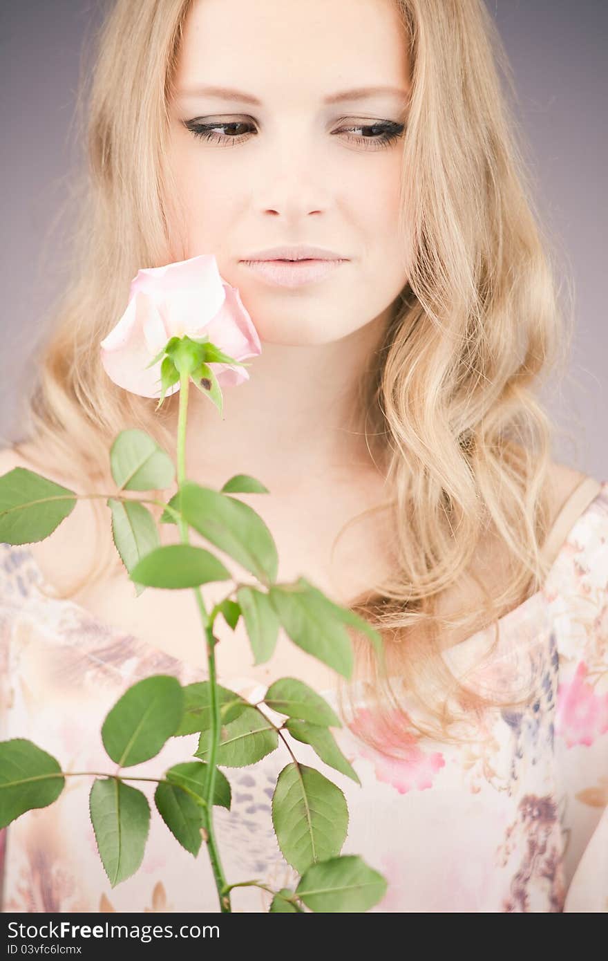
[{"label": "plain purplish-gray backdrop on both sides of the woman's hair", "polygon": [[[137,0],[134,0],[137,2]],[[576,333],[569,377],[550,394],[558,459],[608,479],[605,0],[487,0],[513,69],[536,199],[572,275]],[[64,209],[81,145],[73,111],[83,42],[104,0],[19,0],[0,12],[3,351],[0,435],[19,438],[16,402],[28,344],[61,289]],[[564,288],[566,289],[566,288]],[[549,395],[547,395],[549,399]]]}]

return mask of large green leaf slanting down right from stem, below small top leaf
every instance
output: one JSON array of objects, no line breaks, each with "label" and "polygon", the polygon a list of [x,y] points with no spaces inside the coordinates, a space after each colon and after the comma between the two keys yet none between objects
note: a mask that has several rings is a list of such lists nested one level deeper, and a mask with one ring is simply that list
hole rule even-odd
[{"label": "large green leaf slanting down right from stem, below small top leaf", "polygon": [[261,581],[277,578],[279,556],[273,536],[247,504],[185,480],[180,497],[185,521]]}]

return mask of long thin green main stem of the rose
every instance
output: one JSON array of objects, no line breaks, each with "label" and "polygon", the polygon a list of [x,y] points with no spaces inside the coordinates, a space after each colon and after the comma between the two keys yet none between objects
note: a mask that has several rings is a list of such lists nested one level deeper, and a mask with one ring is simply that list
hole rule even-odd
[{"label": "long thin green main stem of the rose", "polygon": [[[177,448],[177,459],[178,459],[178,492],[182,489],[182,483],[186,480],[185,475],[185,430],[186,430],[186,417],[188,409],[188,387],[190,378],[188,374],[181,373],[180,375],[180,410],[178,415],[178,448]],[[179,498],[178,498],[179,500]],[[188,543],[188,526],[183,520],[182,514],[178,519],[178,526],[180,529],[180,535],[182,537],[182,544]],[[213,792],[215,788],[215,758],[218,752],[218,745],[220,739],[220,706],[219,699],[217,696],[216,680],[215,680],[215,638],[213,637],[213,624],[209,621],[207,610],[205,607],[205,602],[203,600],[203,595],[201,593],[200,587],[194,587],[194,594],[196,597],[196,602],[199,607],[201,614],[201,621],[203,622],[203,627],[205,628],[205,634],[207,637],[207,664],[208,664],[208,675],[209,675],[209,691],[211,695],[211,729],[210,729],[210,752],[208,761],[208,779],[207,779],[207,850],[209,852],[209,860],[211,862],[211,868],[213,870],[213,876],[215,878],[215,886],[217,888],[218,898],[220,900],[220,910],[223,914],[231,912],[231,899],[229,894],[223,894],[223,889],[226,887],[226,878],[222,870],[222,864],[220,861],[219,850],[217,849],[217,843],[215,840],[215,832],[213,830]]]}]

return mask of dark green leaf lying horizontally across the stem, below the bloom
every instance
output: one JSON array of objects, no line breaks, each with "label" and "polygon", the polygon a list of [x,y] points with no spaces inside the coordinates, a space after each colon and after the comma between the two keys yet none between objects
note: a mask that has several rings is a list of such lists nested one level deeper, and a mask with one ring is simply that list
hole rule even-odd
[{"label": "dark green leaf lying horizontally across the stem, below the bloom", "polygon": [[231,580],[222,561],[193,544],[163,544],[142,557],[130,572],[132,580],[148,587],[198,587],[211,580]]}]

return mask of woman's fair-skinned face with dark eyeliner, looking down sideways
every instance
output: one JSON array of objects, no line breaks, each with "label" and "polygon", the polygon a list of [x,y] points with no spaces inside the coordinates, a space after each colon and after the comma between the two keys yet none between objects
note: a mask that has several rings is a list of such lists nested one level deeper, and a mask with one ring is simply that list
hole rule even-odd
[{"label": "woman's fair-skinned face with dark eyeliner, looking down sideways", "polygon": [[[322,344],[389,316],[407,282],[408,69],[393,0],[198,0],[190,12],[168,158],[186,257],[215,255],[262,341]],[[378,86],[394,89],[336,97]],[[283,245],[343,262],[297,286],[244,262]]]}]

